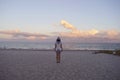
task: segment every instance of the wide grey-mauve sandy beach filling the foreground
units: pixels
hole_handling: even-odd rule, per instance
[[[48,50],[0,50],[0,80],[120,80],[120,56]]]

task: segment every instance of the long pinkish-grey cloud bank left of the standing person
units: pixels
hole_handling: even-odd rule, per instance
[[[40,33],[29,33],[29,32],[21,32],[20,30],[0,30],[0,34],[3,35],[10,35],[11,38],[15,39],[28,39],[28,40],[35,40],[35,39],[46,39],[49,37],[48,35],[40,34]]]

